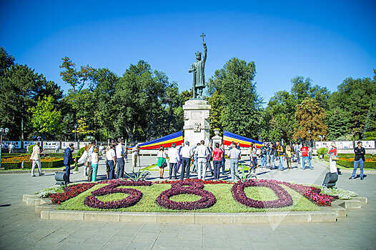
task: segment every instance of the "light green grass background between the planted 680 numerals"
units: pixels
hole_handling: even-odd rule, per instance
[[[192,212],[192,210],[172,210],[172,209],[164,209],[163,207],[159,206],[155,201],[157,196],[161,194],[162,191],[170,189],[171,184],[153,184],[152,186],[119,186],[119,187],[126,187],[131,189],[138,189],[142,191],[142,199],[135,204],[134,206],[130,206],[123,209],[117,210],[103,210],[103,209],[94,209],[89,206],[84,205],[84,199],[86,196],[91,194],[91,191],[99,189],[100,187],[107,185],[107,184],[98,184],[93,186],[91,189],[85,191],[78,196],[69,199],[61,204],[57,209],[60,210],[89,210],[89,211],[138,211],[138,212]],[[296,191],[288,188],[287,186],[281,185],[283,188],[289,192],[292,196],[293,205],[287,206],[285,208],[280,209],[254,209],[239,204],[237,201],[234,200],[232,197],[231,184],[205,184],[204,189],[207,191],[212,192],[217,199],[216,204],[207,208],[207,209],[199,209],[195,210],[194,212],[210,212],[210,213],[238,213],[238,212],[263,212],[263,211],[315,211],[320,210],[320,206],[313,204],[311,201],[305,199],[304,196],[300,195]],[[245,189],[245,193],[249,198],[257,199],[257,200],[274,200],[277,199],[277,196],[274,194],[272,189],[269,189],[264,186],[249,186]],[[117,194],[108,194],[106,196],[97,196],[98,199],[101,201],[114,201],[119,199],[124,199],[128,195],[117,193]],[[180,194],[177,196],[172,196],[171,199],[173,201],[197,201],[200,196],[196,196],[193,194]]]

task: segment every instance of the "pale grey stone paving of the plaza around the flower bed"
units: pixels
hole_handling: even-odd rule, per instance
[[[249,164],[248,157],[243,159]],[[141,159],[142,166],[155,162],[154,156]],[[300,166],[286,171],[257,169],[257,174],[259,179],[322,184],[327,169],[317,161],[313,166],[312,171],[302,171]],[[129,161],[126,171],[131,169]],[[101,179],[104,171],[102,161]],[[158,171],[151,173],[157,179]],[[335,223],[197,225],[42,221],[34,214],[34,206],[22,202],[22,195],[53,186],[54,174],[2,174],[0,249],[376,249],[376,174],[367,174],[364,180],[349,177],[343,173],[337,186],[366,196],[368,204],[348,211],[347,218]],[[84,181],[84,176],[73,174],[71,180]]]

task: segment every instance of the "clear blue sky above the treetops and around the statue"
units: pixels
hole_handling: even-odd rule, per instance
[[[179,90],[208,47],[207,79],[234,56],[254,61],[268,101],[294,76],[335,91],[376,68],[375,1],[0,1],[0,46],[66,91],[61,58],[121,76],[143,59]]]

